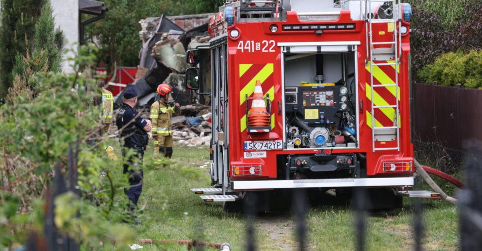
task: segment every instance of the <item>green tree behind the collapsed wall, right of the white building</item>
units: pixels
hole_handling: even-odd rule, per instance
[[[109,72],[116,66],[136,66],[142,41],[139,21],[161,15],[187,15],[217,12],[222,1],[202,0],[106,0],[106,18],[90,24],[86,36],[99,48],[98,62],[107,64]],[[90,18],[85,16],[85,18]]]

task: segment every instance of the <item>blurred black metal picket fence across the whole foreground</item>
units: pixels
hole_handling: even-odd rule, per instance
[[[482,250],[482,143],[478,141],[465,142],[465,187],[457,194],[459,206],[460,224],[460,249],[463,251]],[[65,180],[68,181],[66,184]],[[27,250],[80,250],[80,245],[73,238],[61,234],[54,224],[54,200],[57,196],[67,191],[80,195],[77,188],[77,150],[69,148],[67,179],[61,172],[60,162],[56,165],[54,184],[49,190],[47,200],[46,219],[43,237],[31,234],[27,241]],[[366,217],[368,194],[365,188],[357,188],[353,196],[353,211],[355,214],[355,245],[356,250],[365,250],[365,239],[368,235]],[[249,200],[244,200],[243,207],[246,218],[246,250],[257,250],[255,221],[257,218],[258,198],[254,193]],[[296,222],[297,250],[307,250],[307,223],[306,213],[308,211],[308,196],[304,189],[296,189],[292,192],[292,213]],[[414,250],[423,250],[423,200],[416,200],[413,204],[412,232],[414,238]],[[201,231],[202,229],[199,229]],[[203,236],[200,234],[199,236]],[[340,238],[346,236],[340,236]],[[203,250],[204,245],[196,245],[201,241],[192,241],[188,250],[192,247],[195,250]],[[383,245],[383,243],[381,243]],[[235,247],[233,250],[241,250],[243,247]]]

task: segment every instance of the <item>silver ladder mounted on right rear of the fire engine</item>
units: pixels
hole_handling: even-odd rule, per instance
[[[399,106],[398,106],[398,93],[399,93],[399,86],[398,86],[398,71],[400,69],[400,55],[401,55],[401,34],[399,32],[401,26],[401,3],[400,0],[364,0],[365,2],[365,26],[366,26],[366,38],[368,43],[366,45],[367,49],[367,60],[366,65],[370,66],[370,88],[371,88],[371,125],[372,125],[372,149],[374,151],[380,150],[400,150],[400,127],[399,127]],[[372,3],[391,3],[392,4],[392,11],[393,17],[392,19],[373,19],[372,10]],[[395,12],[395,6],[398,6],[397,12]],[[360,8],[362,8],[360,6]],[[397,27],[398,22],[398,27]],[[393,41],[382,41],[382,42],[373,42],[373,24],[374,23],[393,23],[394,31],[393,31]],[[393,63],[374,63],[373,58],[373,46],[374,45],[391,45],[393,48]],[[394,65],[395,71],[395,83],[391,84],[383,84],[382,85],[373,85],[373,66],[384,66],[384,65]],[[382,105],[376,106],[373,101],[373,93],[378,88],[386,88],[386,87],[395,87],[395,105]],[[391,127],[376,127],[375,124],[375,109],[377,108],[394,108],[394,119],[393,125]],[[378,112],[381,112],[380,110]],[[393,137],[395,138],[393,139]],[[375,147],[375,141],[397,141],[397,147]]]

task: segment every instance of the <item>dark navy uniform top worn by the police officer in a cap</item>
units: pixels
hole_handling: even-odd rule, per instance
[[[117,110],[116,124],[118,130],[125,126],[120,133],[121,145],[144,151],[149,141],[149,135],[144,131],[147,121],[141,116],[137,116],[137,113],[128,104],[123,103]]]

